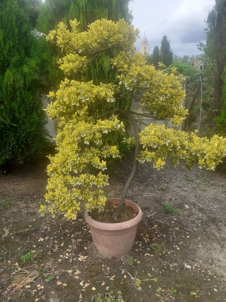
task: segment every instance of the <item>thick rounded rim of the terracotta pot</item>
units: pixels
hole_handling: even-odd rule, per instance
[[[120,198],[108,198],[106,201],[118,204],[120,201]],[[88,211],[86,210],[85,220],[89,225],[91,225],[92,227],[94,227],[96,229],[100,229],[100,230],[114,231],[114,230],[129,229],[130,227],[136,226],[140,222],[143,214],[142,214],[141,208],[138,206],[138,204],[135,204],[133,201],[125,199],[125,204],[129,205],[136,211],[138,210],[137,216],[135,216],[134,218],[132,218],[130,220],[124,221],[124,222],[106,223],[106,222],[99,222],[97,220],[94,220],[93,218],[91,218],[89,216]]]

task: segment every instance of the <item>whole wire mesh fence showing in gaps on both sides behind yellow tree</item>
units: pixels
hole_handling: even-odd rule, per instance
[[[213,75],[191,75],[187,77],[184,82],[181,82],[181,85],[183,86],[183,89],[186,90],[186,99],[183,101],[182,105],[188,109],[189,114],[179,129],[186,130],[188,132],[197,129],[199,130],[199,136],[208,135],[208,132],[210,132],[214,126],[214,120],[212,118],[214,110]],[[148,113],[145,108],[142,108],[141,102],[143,94],[146,92],[147,88],[148,87],[140,87],[136,89],[133,98],[133,111],[138,113]],[[42,95],[43,109],[48,106],[50,101],[50,98],[47,98],[44,94]],[[149,121],[147,120],[146,122]],[[153,120],[150,120],[150,123],[151,122],[153,122]],[[159,122],[157,123],[159,124]],[[168,125],[166,121],[164,123],[166,126]],[[58,121],[50,120],[46,114],[45,127],[47,130],[47,139],[51,143],[55,143],[53,138],[56,137],[57,126]]]

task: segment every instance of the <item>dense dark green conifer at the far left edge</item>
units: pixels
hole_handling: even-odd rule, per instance
[[[27,2],[0,3],[0,165],[3,166],[22,163],[41,153],[45,144],[39,69],[30,56],[32,24],[22,5]]]

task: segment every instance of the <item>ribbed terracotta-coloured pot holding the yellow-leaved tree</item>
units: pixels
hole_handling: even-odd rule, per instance
[[[118,204],[119,198],[109,198],[106,202]],[[142,218],[141,208],[132,201],[125,200],[125,204],[137,211],[137,216],[120,223],[104,223],[93,220],[86,210],[85,220],[89,224],[93,242],[98,252],[107,257],[118,257],[128,253],[133,245],[137,225]]]

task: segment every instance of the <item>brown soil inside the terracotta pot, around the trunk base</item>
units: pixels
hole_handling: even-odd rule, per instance
[[[119,223],[119,222],[125,222],[128,220],[133,219],[135,216],[137,216],[137,212],[130,207],[129,205],[124,204],[120,215],[117,219],[112,218],[112,215],[117,208],[117,205],[111,202],[107,202],[104,206],[103,211],[99,211],[98,209],[92,210],[92,212],[89,212],[89,217],[92,219],[99,221],[99,222],[105,222],[105,223]]]

